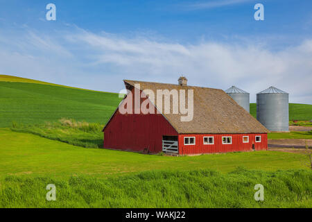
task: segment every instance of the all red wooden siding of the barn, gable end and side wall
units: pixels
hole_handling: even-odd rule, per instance
[[[132,96],[134,97],[134,89]],[[145,99],[141,99],[141,103]],[[132,98],[134,101],[134,98]],[[121,114],[118,110],[104,129],[104,148],[120,150],[143,151],[145,148],[152,153],[162,151],[162,137],[178,136],[180,155],[200,153],[227,153],[234,151],[267,150],[268,137],[266,133],[259,134],[180,134],[171,126],[162,114]],[[135,107],[133,104],[132,111]],[[255,137],[261,136],[261,142]],[[249,142],[243,143],[243,136],[249,136]],[[184,137],[196,137],[195,145],[184,145]],[[214,144],[204,144],[203,137],[214,137]],[[232,137],[232,144],[222,144],[222,137]]]

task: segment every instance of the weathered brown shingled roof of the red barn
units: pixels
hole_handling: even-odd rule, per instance
[[[124,80],[125,87],[131,89],[135,84],[140,89],[151,89],[156,95],[157,89],[193,89],[193,120],[181,121],[183,114],[165,114],[164,117],[177,130],[177,133],[268,133],[269,131],[257,119],[236,103],[222,89],[207,87],[180,86],[165,83],[150,83],[136,80]],[[187,96],[187,91],[186,91]],[[157,104],[155,96],[155,105]],[[186,99],[187,103],[187,99]],[[171,103],[172,104],[172,103]],[[172,106],[172,105],[171,105]],[[162,110],[160,110],[162,111]]]

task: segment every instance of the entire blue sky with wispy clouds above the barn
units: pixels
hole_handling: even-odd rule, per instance
[[[251,101],[274,85],[312,104],[311,26],[312,1],[0,1],[0,73],[109,92],[184,74]]]

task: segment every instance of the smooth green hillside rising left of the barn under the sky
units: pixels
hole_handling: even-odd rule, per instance
[[[58,121],[66,117],[106,123],[120,99],[118,94],[49,85],[25,78],[0,80],[0,127]],[[23,83],[14,82],[22,80]],[[28,81],[28,82],[27,82]]]

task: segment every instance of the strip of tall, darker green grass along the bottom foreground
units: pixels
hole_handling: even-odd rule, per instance
[[[304,170],[147,171],[119,178],[22,178],[1,181],[0,207],[312,207],[312,173]],[[46,185],[56,200],[46,200]],[[254,185],[264,201],[254,200]]]

